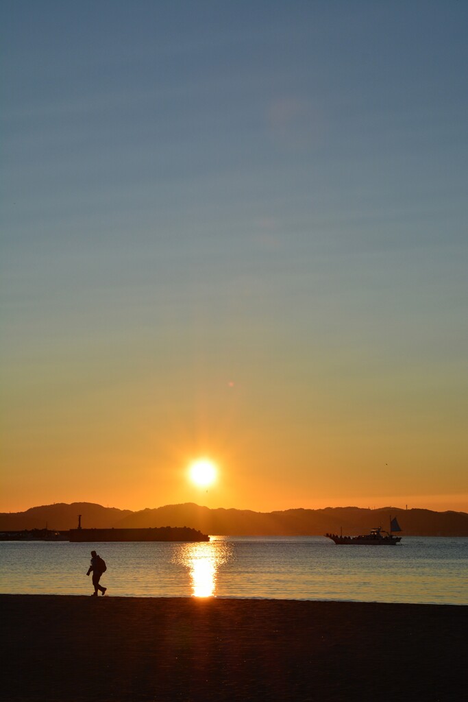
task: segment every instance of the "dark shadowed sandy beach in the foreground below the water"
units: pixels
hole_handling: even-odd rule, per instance
[[[468,699],[468,608],[0,595],[0,699]]]

